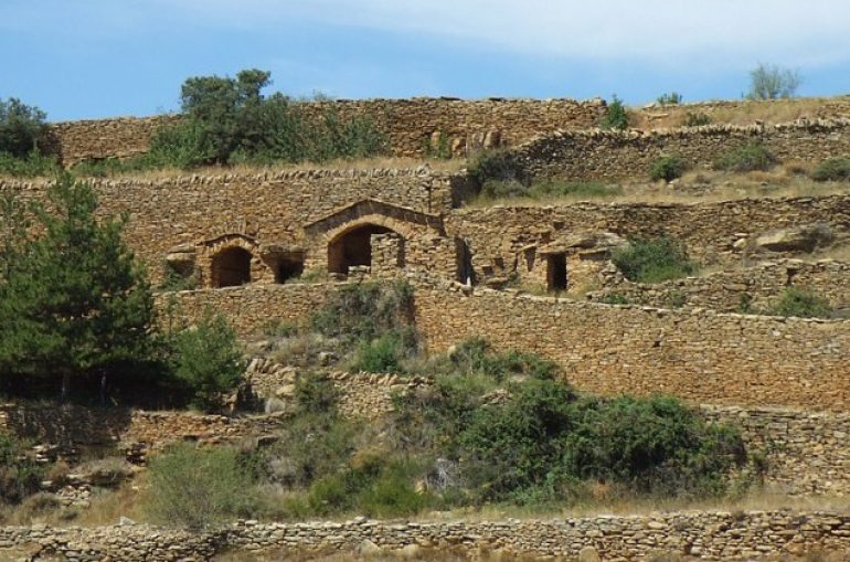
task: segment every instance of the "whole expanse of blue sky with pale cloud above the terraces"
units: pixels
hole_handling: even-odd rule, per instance
[[[189,76],[339,98],[739,98],[758,62],[850,94],[847,0],[0,0],[0,97],[50,120],[179,107]]]

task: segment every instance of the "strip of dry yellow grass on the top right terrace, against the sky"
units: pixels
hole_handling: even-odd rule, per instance
[[[850,117],[850,98],[801,98],[775,102],[727,102],[633,109],[631,126],[638,129],[681,127],[688,113],[705,114],[714,124],[752,125],[788,123],[803,117]]]

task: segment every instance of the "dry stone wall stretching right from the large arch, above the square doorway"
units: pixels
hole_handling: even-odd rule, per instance
[[[703,264],[740,264],[753,234],[800,225],[825,225],[837,240],[850,233],[850,195],[743,199],[712,203],[593,203],[456,209],[446,231],[469,245],[472,266],[516,271],[528,247],[576,232],[623,237],[670,236]],[[776,253],[775,257],[790,254]],[[522,273],[522,272],[520,272]]]

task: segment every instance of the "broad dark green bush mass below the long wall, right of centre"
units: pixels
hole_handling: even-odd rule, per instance
[[[709,425],[674,399],[578,399],[555,381],[532,380],[512,399],[476,410],[459,442],[465,474],[481,499],[551,499],[583,480],[639,492],[724,491],[745,460],[740,435]]]

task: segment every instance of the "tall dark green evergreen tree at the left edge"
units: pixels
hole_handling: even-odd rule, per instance
[[[99,380],[150,351],[153,299],[123,241],[126,218],[98,220],[97,197],[62,176],[33,205],[35,235],[7,252],[0,279],[0,375]],[[10,208],[11,209],[11,208]]]

